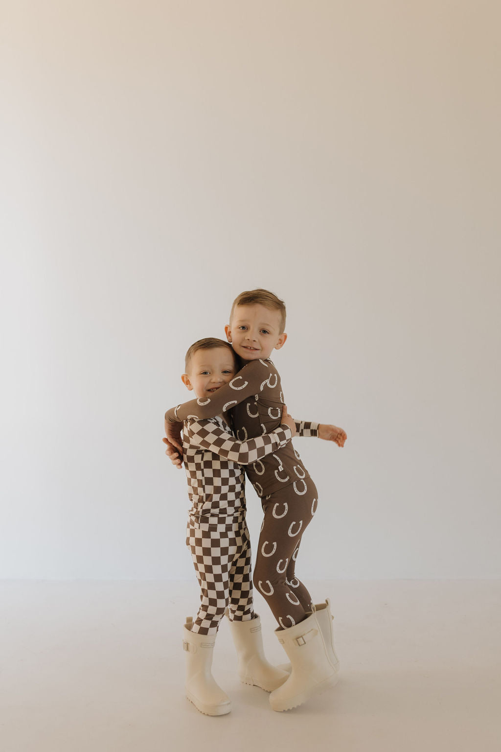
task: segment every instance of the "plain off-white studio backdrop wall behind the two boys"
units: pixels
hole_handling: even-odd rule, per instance
[[[501,576],[500,15],[4,0],[3,578],[193,578],[163,414],[253,287],[349,435],[298,574]]]

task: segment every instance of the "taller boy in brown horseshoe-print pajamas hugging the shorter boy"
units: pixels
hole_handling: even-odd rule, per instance
[[[174,444],[177,427],[171,424],[189,414],[203,419],[231,408],[237,438],[243,440],[273,432],[281,420],[284,400],[270,354],[287,338],[285,305],[267,290],[241,293],[225,332],[245,365],[203,404],[189,402],[165,414],[166,432]],[[346,441],[346,433],[337,426],[299,428],[300,435],[318,435],[341,447]],[[338,670],[329,602],[315,607],[295,575],[301,536],[315,514],[318,493],[291,443],[248,465],[246,472],[264,511],[254,584],[279,623],[276,633],[291,659],[291,677],[270,696],[272,708],[282,711],[333,684]]]

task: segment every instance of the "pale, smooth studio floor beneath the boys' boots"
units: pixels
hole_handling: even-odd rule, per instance
[[[2,752],[499,752],[499,581],[309,581],[329,596],[337,687],[287,713],[238,681],[223,620],[222,717],[184,696],[195,582],[0,583]],[[260,596],[268,658],[285,656]]]

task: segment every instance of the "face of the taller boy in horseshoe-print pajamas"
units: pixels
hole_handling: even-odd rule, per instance
[[[231,322],[225,326],[226,338],[243,360],[264,360],[285,344],[287,335],[280,333],[281,320],[280,311],[264,305],[236,305]]]

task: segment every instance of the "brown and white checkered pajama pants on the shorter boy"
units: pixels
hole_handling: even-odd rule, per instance
[[[254,618],[249,530],[239,523],[186,527],[186,545],[192,552],[200,584],[201,606],[192,632],[215,635],[229,608],[231,621]]]

